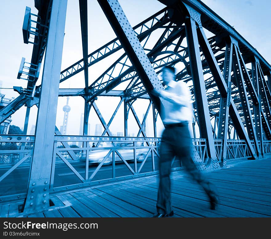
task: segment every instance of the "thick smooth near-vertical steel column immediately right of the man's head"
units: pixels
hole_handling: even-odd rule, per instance
[[[212,159],[216,159],[216,150],[212,134],[212,125],[203,77],[203,69],[200,59],[200,48],[196,32],[196,23],[190,17],[186,17],[185,19],[185,30],[194,86],[194,94],[196,98],[200,137],[206,138],[208,156]]]

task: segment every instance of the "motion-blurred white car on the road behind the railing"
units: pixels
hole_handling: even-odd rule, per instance
[[[118,147],[119,148],[119,147],[129,147],[129,146],[132,147],[133,143],[114,143],[114,145],[112,145],[110,143],[110,145],[103,144],[102,147]],[[88,160],[89,160],[90,164],[100,163],[101,161],[103,161],[104,157],[110,151],[110,149],[98,149],[98,148],[95,148],[95,149],[89,151]],[[134,150],[133,149],[129,149],[129,148],[121,149],[120,148],[117,150],[118,150],[119,154],[121,155],[121,157],[123,157],[123,159],[125,161],[134,160]],[[136,161],[137,162],[143,161],[146,154],[148,153],[148,150],[149,150],[148,148],[143,148],[143,147],[136,148]],[[117,153],[115,153],[115,161],[122,161]],[[110,153],[110,155],[108,156],[106,161],[103,163],[103,165],[111,164],[111,163],[112,163],[112,153]]]

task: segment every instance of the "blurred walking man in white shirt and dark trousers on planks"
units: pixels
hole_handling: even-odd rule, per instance
[[[159,189],[157,195],[157,213],[153,217],[173,216],[171,203],[171,163],[174,156],[182,161],[183,166],[207,193],[211,209],[216,210],[218,198],[216,188],[197,169],[191,158],[192,139],[188,122],[192,120],[191,93],[184,82],[175,81],[175,68],[165,66],[162,72],[165,90],[153,91],[153,94],[164,99],[161,104],[161,119],[165,130],[162,134],[159,160]]]

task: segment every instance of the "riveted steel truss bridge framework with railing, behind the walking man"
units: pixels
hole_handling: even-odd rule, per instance
[[[26,75],[28,84],[25,89],[14,87],[20,95],[0,111],[3,122],[26,105],[24,135],[0,136],[2,145],[16,145],[0,152],[1,203],[24,200],[19,212],[33,213],[52,206],[50,196],[58,192],[157,174],[161,139],[157,137],[156,122],[163,101],[148,93],[163,88],[157,75],[165,65],[180,69],[177,80],[190,87],[194,106],[193,160],[201,170],[219,169],[237,158],[261,159],[271,153],[271,66],[233,27],[198,0],[160,0],[165,8],[134,27],[117,0],[98,2],[117,37],[89,53],[87,0],[79,0],[83,58],[66,69],[61,69],[61,60],[67,0],[35,1],[38,15],[26,7],[23,36],[25,43],[33,44],[33,51],[30,63],[22,61],[18,78]],[[31,34],[33,42],[29,41]],[[97,79],[91,79],[91,66],[116,52],[121,53],[120,57]],[[43,57],[42,83],[36,86]],[[62,82],[79,72],[84,73],[85,88],[61,88]],[[55,126],[55,102],[60,96],[84,99],[83,135],[61,135]],[[108,122],[96,104],[103,96],[120,99]],[[133,107],[138,99],[148,102],[142,121]],[[29,136],[27,125],[34,105],[38,107],[36,133]],[[122,105],[124,135],[112,136],[109,127]],[[87,135],[91,108],[104,128],[100,136]],[[134,137],[128,136],[129,113],[139,127]],[[148,113],[153,118],[151,136],[144,131]],[[82,147],[71,148],[75,142]],[[114,146],[92,149],[90,142]],[[145,150],[140,161],[136,153],[142,149],[139,142],[144,142]],[[107,153],[89,170],[93,150]],[[132,154],[131,161],[127,161],[123,150]],[[108,158],[109,166],[105,165]],[[84,169],[80,171],[82,159]],[[119,161],[127,171],[119,171]],[[60,167],[70,172],[63,175],[74,178],[59,183]],[[180,167],[178,162],[172,162],[173,170]],[[109,174],[101,173],[108,168]],[[19,177],[10,185],[12,178],[22,174],[25,179]]]

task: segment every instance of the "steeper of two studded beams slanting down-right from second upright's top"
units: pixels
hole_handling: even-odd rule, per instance
[[[243,113],[245,116],[245,123],[246,123],[246,128],[248,132],[248,136],[250,140],[254,141],[255,144],[255,149],[256,149],[256,155],[259,157],[259,146],[258,146],[258,141],[256,137],[256,132],[255,128],[253,126],[253,119],[250,111],[250,105],[249,105],[249,100],[247,96],[247,91],[245,88],[245,81],[241,69],[241,64],[239,61],[239,55],[238,55],[238,50],[237,50],[238,44],[234,44],[233,47],[233,71],[234,71],[234,76],[237,81],[237,86],[239,90],[239,96],[241,99],[241,106],[243,109]]]

